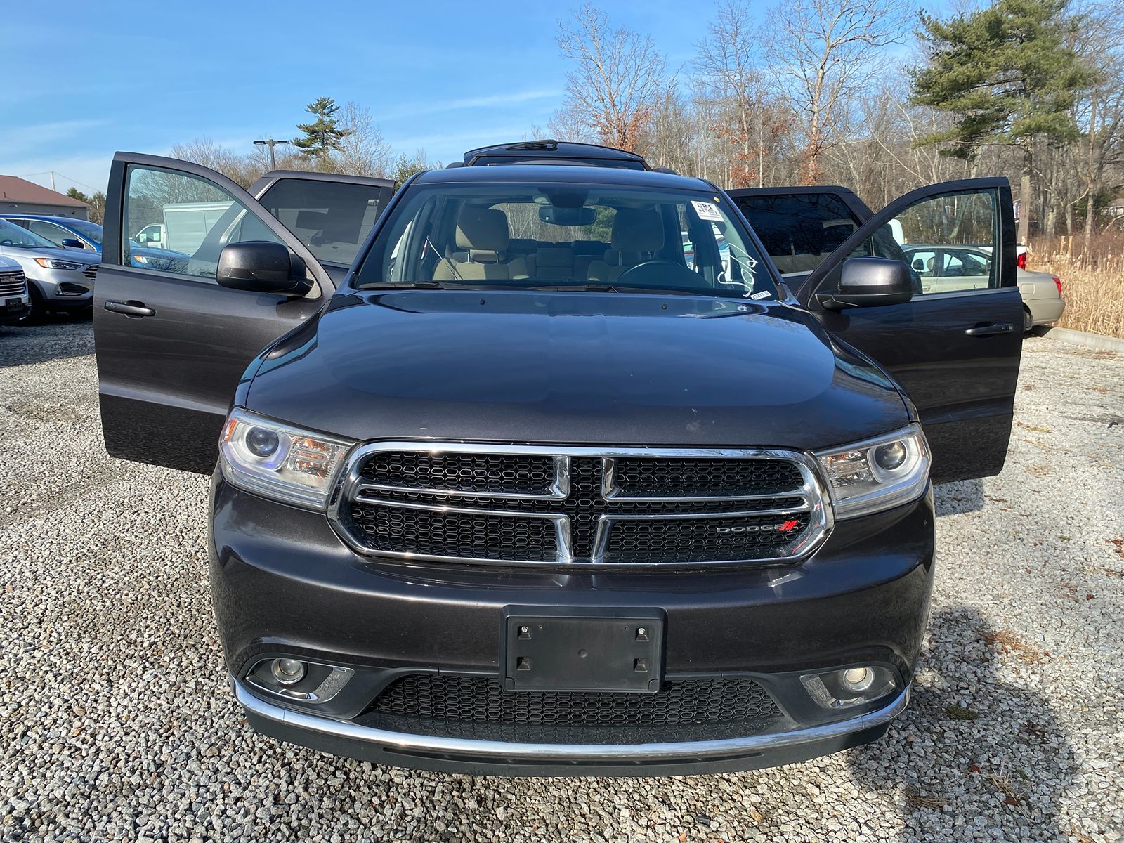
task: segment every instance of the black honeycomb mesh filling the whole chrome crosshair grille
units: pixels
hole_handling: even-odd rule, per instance
[[[569,554],[578,562],[668,564],[785,558],[812,520],[807,511],[796,511],[808,508],[808,502],[796,493],[804,486],[800,469],[783,459],[616,457],[614,479],[622,493],[655,500],[606,499],[605,463],[600,456],[571,456],[569,470],[569,493],[564,499],[502,497],[546,493],[554,481],[553,456],[375,452],[362,465],[360,483],[401,488],[362,489],[351,506],[343,509],[343,526],[364,546],[383,553],[554,562],[566,550],[558,545],[554,522],[518,516],[565,516]],[[450,496],[443,495],[442,489],[469,493]],[[673,499],[688,495],[767,497]],[[396,502],[436,505],[445,511],[410,509],[395,506]],[[488,514],[455,511],[459,508]],[[754,510],[791,514],[754,516]],[[492,511],[514,515],[499,516]],[[729,518],[722,517],[725,513],[732,514]],[[714,517],[643,518],[688,514]],[[597,549],[602,515],[614,520],[608,543]],[[795,526],[778,528],[792,519]],[[727,527],[770,528],[726,531]],[[595,558],[595,551],[601,555]]]

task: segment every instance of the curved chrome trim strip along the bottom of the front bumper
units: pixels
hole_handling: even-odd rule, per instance
[[[854,732],[881,726],[905,710],[909,704],[909,689],[883,708],[849,720],[839,720],[823,726],[779,732],[767,735],[747,735],[720,741],[687,741],[681,743],[640,744],[537,744],[508,741],[474,741],[463,737],[439,735],[411,735],[388,732],[380,728],[359,726],[347,720],[334,720],[303,711],[275,706],[252,695],[234,677],[230,685],[238,703],[250,713],[285,726],[350,738],[363,743],[379,744],[404,752],[448,753],[453,755],[475,755],[481,759],[505,758],[541,761],[660,761],[677,758],[708,758],[754,753],[767,750],[798,746],[834,737],[843,737]]]

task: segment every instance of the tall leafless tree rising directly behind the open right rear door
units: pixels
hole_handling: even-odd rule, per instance
[[[824,151],[845,134],[887,47],[905,38],[906,8],[895,0],[789,0],[769,12],[769,65],[805,136],[803,183],[819,181]]]

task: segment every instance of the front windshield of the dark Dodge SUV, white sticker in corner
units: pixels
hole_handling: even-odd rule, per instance
[[[710,192],[619,184],[415,185],[356,287],[774,298],[765,263],[727,206]]]

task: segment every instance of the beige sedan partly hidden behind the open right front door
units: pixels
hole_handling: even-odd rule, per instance
[[[921,277],[925,292],[973,290],[988,285],[991,250],[987,246],[941,246],[924,243],[904,247],[909,264]],[[1024,253],[1025,254],[1025,253]],[[1024,261],[1025,263],[1025,261]],[[1023,297],[1023,329],[1052,325],[1066,310],[1061,279],[1049,272],[1019,269],[1018,292]]]

